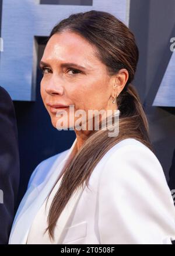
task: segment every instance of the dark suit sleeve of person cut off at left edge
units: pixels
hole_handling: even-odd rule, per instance
[[[0,244],[7,244],[19,186],[19,149],[15,109],[8,92],[0,87]]]

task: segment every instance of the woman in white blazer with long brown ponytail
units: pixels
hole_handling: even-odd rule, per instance
[[[76,139],[34,170],[10,244],[171,244],[175,239],[173,198],[131,85],[137,62],[134,35],[107,12],[76,13],[53,28],[40,63],[41,96],[53,126],[73,127]],[[102,129],[104,115],[99,130],[79,129],[79,110],[111,110],[113,121],[119,110],[119,133],[109,136]]]

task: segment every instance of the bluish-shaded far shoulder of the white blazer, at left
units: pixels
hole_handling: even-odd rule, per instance
[[[33,186],[38,186],[45,179],[47,179],[47,177],[51,175],[51,167],[53,166],[54,162],[59,160],[61,161],[62,157],[67,154],[68,150],[62,151],[61,153],[55,154],[41,161],[30,176],[28,188],[31,186],[31,184]]]

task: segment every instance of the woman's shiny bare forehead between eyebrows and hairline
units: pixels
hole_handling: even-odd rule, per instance
[[[84,64],[87,67],[101,64],[95,56],[95,47],[73,32],[54,34],[48,40],[43,54],[43,61],[68,61]]]

